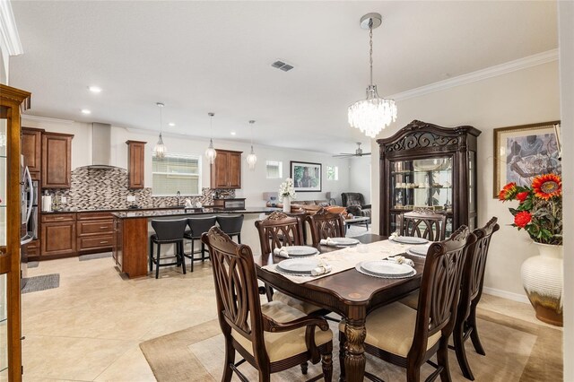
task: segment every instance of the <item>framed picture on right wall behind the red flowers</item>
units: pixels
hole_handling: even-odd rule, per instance
[[[556,124],[560,121],[494,129],[494,197],[510,182],[530,186],[537,175],[561,174]]]

